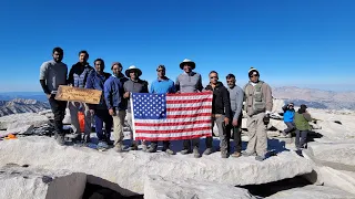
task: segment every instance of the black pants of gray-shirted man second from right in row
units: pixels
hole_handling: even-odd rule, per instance
[[[235,150],[237,153],[242,151],[242,114],[237,118],[237,126],[232,125],[232,119],[230,121],[230,124],[225,127],[226,128],[226,140],[227,140],[227,151],[231,153],[231,144],[230,139],[233,137],[234,144],[235,144]]]

